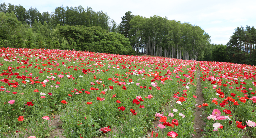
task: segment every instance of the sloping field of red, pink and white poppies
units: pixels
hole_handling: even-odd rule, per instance
[[[0,137],[194,137],[201,107],[204,137],[255,137],[255,66],[8,47],[0,57]]]

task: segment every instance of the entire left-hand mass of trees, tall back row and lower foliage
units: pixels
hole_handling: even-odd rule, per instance
[[[135,55],[129,39],[115,32],[117,25],[111,29],[110,18],[102,11],[61,6],[41,15],[36,8],[10,3],[0,3],[0,10],[0,46]]]

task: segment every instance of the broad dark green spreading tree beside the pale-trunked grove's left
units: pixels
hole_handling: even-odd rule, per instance
[[[108,32],[101,27],[64,25],[56,28],[55,35],[64,38],[70,49],[134,55],[129,40],[119,33]]]

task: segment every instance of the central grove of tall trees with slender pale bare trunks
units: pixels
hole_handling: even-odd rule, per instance
[[[201,27],[156,15],[145,18],[128,11],[119,29],[136,52],[156,56],[200,60],[210,43],[210,36]]]

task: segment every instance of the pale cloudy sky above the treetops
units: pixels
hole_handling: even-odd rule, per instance
[[[122,21],[125,12],[149,18],[167,17],[200,26],[211,36],[211,43],[227,44],[236,27],[252,27],[256,23],[255,0],[0,0],[39,12],[52,12],[56,7],[92,7],[94,11],[103,11],[117,24]]]

